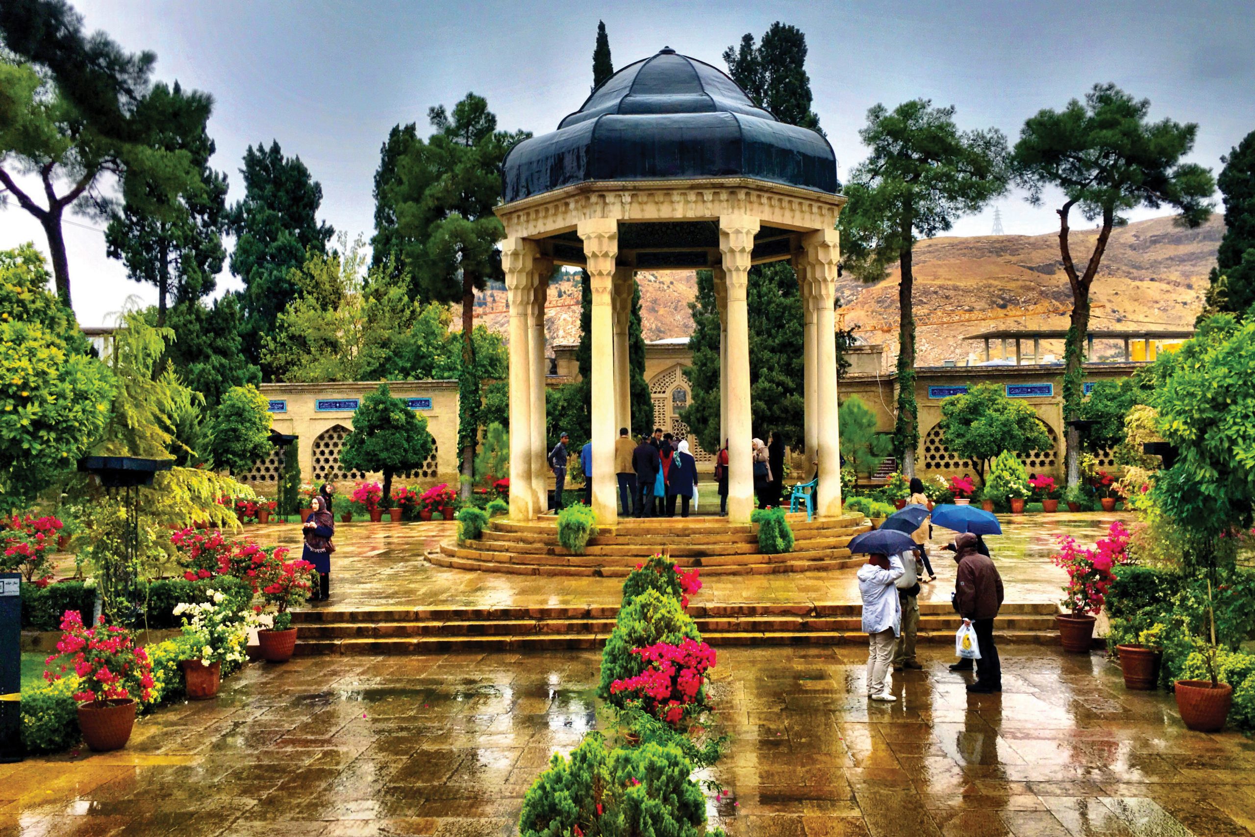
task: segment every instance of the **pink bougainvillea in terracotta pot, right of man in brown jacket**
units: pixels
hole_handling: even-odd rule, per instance
[[[1050,561],[1068,573],[1064,599],[1060,602],[1069,612],[1054,617],[1059,626],[1059,639],[1065,651],[1088,654],[1093,645],[1094,621],[1102,611],[1107,590],[1114,576],[1112,567],[1127,560],[1130,532],[1119,521],[1111,525],[1106,538],[1093,550],[1082,550],[1074,538],[1060,535],[1059,552]]]

